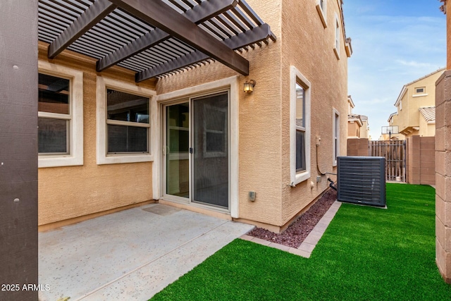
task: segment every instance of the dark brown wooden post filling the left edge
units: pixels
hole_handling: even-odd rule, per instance
[[[0,7],[0,300],[37,300],[37,0]]]

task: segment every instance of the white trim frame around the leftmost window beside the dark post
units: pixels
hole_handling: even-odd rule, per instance
[[[69,152],[68,154],[39,155],[38,167],[83,165],[83,72],[47,61],[38,61],[37,67],[39,73],[70,80]],[[38,112],[38,116],[55,117],[54,114],[46,112]]]

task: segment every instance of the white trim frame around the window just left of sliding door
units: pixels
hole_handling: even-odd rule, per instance
[[[149,153],[148,154],[107,154],[106,143],[106,89],[118,90],[121,92],[127,92],[136,95],[142,95],[149,97]],[[138,87],[128,82],[121,82],[118,80],[111,80],[110,78],[104,78],[97,76],[97,164],[123,164],[123,163],[136,163],[136,162],[149,162],[154,161],[152,152],[153,141],[157,139],[156,133],[156,104],[154,96],[156,92],[144,87]]]

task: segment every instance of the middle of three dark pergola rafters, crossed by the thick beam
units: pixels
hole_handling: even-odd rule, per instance
[[[208,0],[186,11],[183,13],[183,16],[190,19],[192,23],[199,24],[205,20],[213,18],[214,16],[218,16],[231,8],[234,8],[236,5],[237,0]],[[124,61],[135,54],[139,54],[141,51],[149,49],[150,47],[154,47],[156,44],[159,44],[170,37],[171,35],[168,35],[163,30],[155,28],[155,30],[147,32],[145,35],[135,39],[135,41],[130,44],[127,44],[104,58],[99,59],[99,61],[97,61],[97,72],[101,72],[106,68],[121,63],[121,61]]]

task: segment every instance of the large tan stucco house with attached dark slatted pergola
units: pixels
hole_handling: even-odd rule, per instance
[[[342,1],[111,2],[39,1],[41,230],[159,201],[280,231],[328,189]]]

